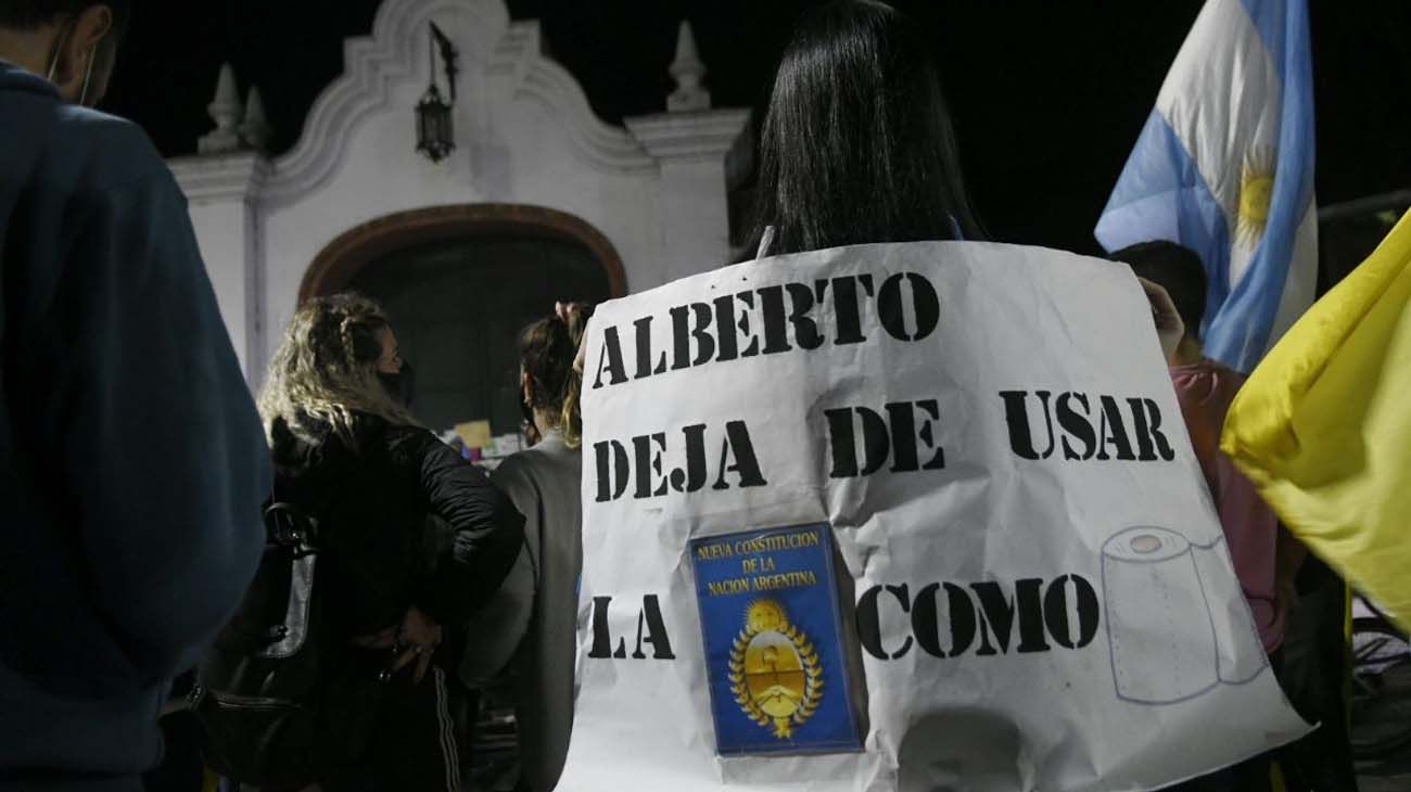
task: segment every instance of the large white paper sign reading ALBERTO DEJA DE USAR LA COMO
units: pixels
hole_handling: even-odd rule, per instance
[[[1153,789],[1307,730],[1120,265],[917,242],[687,278],[598,309],[583,412],[560,789]],[[840,713],[858,750],[810,753]]]

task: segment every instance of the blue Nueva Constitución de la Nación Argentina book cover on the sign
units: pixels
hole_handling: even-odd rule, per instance
[[[715,751],[862,750],[825,523],[691,541]]]

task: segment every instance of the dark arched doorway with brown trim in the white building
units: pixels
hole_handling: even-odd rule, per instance
[[[442,431],[488,421],[519,428],[519,330],[556,300],[625,293],[611,242],[570,214],[519,204],[460,204],[381,217],[320,252],[301,302],[356,290],[388,311],[415,369],[413,410]]]

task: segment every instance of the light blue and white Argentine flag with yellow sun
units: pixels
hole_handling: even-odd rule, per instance
[[[1096,228],[1171,240],[1209,275],[1206,355],[1250,372],[1318,279],[1305,0],[1206,0]]]

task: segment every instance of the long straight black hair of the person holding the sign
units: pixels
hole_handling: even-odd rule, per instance
[[[983,235],[940,73],[917,25],[876,0],[800,17],[759,141],[749,254]]]

